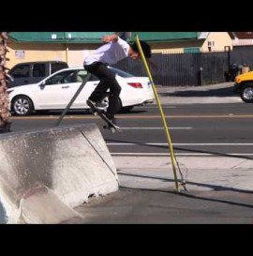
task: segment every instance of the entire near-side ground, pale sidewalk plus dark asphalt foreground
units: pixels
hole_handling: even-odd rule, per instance
[[[252,223],[253,160],[178,158],[186,188],[176,192],[170,158],[113,157],[120,189],[76,210],[83,223]],[[185,165],[185,166],[184,166]],[[187,170],[186,170],[187,169]],[[180,179],[180,176],[178,177]]]

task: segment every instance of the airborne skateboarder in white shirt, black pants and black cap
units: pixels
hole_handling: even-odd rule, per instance
[[[107,117],[116,125],[114,115],[119,110],[117,109],[121,86],[115,78],[115,73],[112,72],[109,65],[114,65],[127,57],[138,60],[141,58],[138,46],[136,43],[128,44],[127,41],[119,38],[118,35],[104,36],[103,42],[107,43],[97,49],[94,53],[88,55],[84,60],[84,68],[91,74],[97,76],[100,80],[97,88],[91,94],[87,101],[92,101],[97,109],[103,110],[105,105],[100,101],[110,88],[109,108]],[[151,57],[150,46],[141,41],[141,48],[146,58]]]

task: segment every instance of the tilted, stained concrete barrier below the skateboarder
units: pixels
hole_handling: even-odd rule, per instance
[[[21,218],[25,223],[67,222],[79,218],[69,208],[119,188],[111,154],[95,124],[3,134],[0,162],[1,201],[12,223]],[[32,196],[27,196],[31,190]],[[49,215],[57,211],[50,211],[52,204],[67,214],[45,218],[44,212],[43,218],[37,217],[47,198],[54,202],[46,206]]]

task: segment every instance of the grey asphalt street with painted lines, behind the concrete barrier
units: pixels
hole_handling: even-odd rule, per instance
[[[253,158],[252,104],[163,105],[171,141],[178,156]],[[51,128],[61,112],[13,116],[13,131]],[[136,107],[116,116],[121,132],[103,130],[103,121],[89,112],[70,112],[62,126],[96,122],[112,156],[166,156],[169,153],[156,105]]]

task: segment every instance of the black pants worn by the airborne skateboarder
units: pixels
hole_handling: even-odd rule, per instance
[[[121,92],[121,86],[115,78],[115,73],[113,73],[106,64],[101,62],[95,62],[89,66],[84,66],[84,68],[89,73],[97,76],[100,80],[89,99],[95,102],[100,101],[110,88],[109,108],[107,113],[114,117],[114,114],[119,111],[119,95]]]

